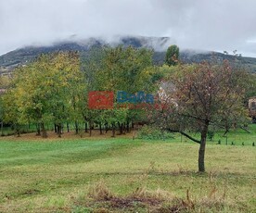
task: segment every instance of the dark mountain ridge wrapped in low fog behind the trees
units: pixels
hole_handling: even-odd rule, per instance
[[[168,37],[144,37],[144,36],[117,36],[111,40],[104,40],[100,38],[89,38],[84,40],[70,39],[68,41],[59,42],[56,44],[45,46],[27,46],[17,50],[6,53],[0,56],[0,72],[5,74],[10,72],[15,67],[26,64],[32,61],[33,58],[40,54],[47,54],[57,51],[79,51],[83,56],[90,48],[96,46],[110,45],[116,46],[122,44],[123,46],[132,45],[136,48],[146,47],[154,49],[155,53],[153,60],[155,64],[161,65],[164,62],[165,51],[172,40]],[[214,53],[217,60],[229,59],[234,60],[234,56],[224,55],[221,53]],[[210,60],[211,52],[198,52],[193,50],[182,50],[180,52],[180,59],[183,63],[200,62],[202,60]],[[241,57],[242,63],[251,71],[256,72],[256,58]]]

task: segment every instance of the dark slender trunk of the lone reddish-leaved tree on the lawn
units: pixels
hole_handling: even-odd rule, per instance
[[[205,167],[204,167],[204,155],[205,155],[205,146],[206,146],[206,137],[207,137],[207,132],[208,132],[208,126],[209,126],[209,121],[206,120],[204,123],[204,127],[202,129],[201,133],[201,140],[200,140],[200,147],[198,151],[198,171],[199,172],[204,172]]]

